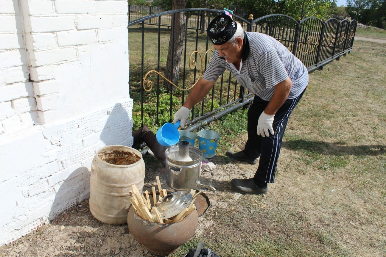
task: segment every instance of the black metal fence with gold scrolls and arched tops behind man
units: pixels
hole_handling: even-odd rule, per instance
[[[134,8],[129,9],[134,13]],[[147,9],[150,10],[150,9]],[[130,13],[129,12],[129,13]],[[146,13],[144,9],[135,12]],[[149,11],[150,14],[151,11]],[[130,95],[134,99],[134,127],[147,124],[156,130],[172,121],[173,114],[186,100],[187,92],[200,79],[213,52],[213,47],[201,33],[220,10],[191,8],[154,13],[129,19]],[[172,18],[183,13],[185,32],[181,54],[180,75],[171,91],[164,89],[163,81]],[[205,14],[205,15],[203,15]],[[254,20],[233,15],[244,29],[271,35],[285,45],[307,67],[308,72],[322,69],[325,64],[339,59],[352,49],[357,22],[331,18],[325,22],[308,17],[297,21],[287,15],[266,15]],[[131,17],[133,17],[131,15]],[[174,42],[172,41],[174,49]],[[225,72],[208,96],[191,110],[187,130],[195,130],[223,115],[243,107],[253,95],[244,92],[230,72]],[[139,119],[139,116],[141,119]]]

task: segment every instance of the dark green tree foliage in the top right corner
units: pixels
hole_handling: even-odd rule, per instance
[[[347,0],[346,10],[360,23],[385,27],[385,0]]]

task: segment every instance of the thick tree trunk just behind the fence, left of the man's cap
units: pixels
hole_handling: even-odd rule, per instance
[[[188,0],[173,0],[172,10],[185,8],[187,2]],[[171,34],[169,39],[169,51],[168,51],[168,59],[166,61],[165,77],[167,77],[174,84],[177,84],[178,77],[179,77],[179,64],[181,62],[181,54],[183,49],[185,21],[184,21],[183,12],[175,13],[175,20],[173,16],[174,14],[172,14],[172,20],[171,20]],[[174,30],[174,41],[173,41],[173,30]],[[174,48],[173,48],[173,42],[174,42]],[[173,58],[172,58],[172,55],[173,55]],[[171,91],[173,89],[173,85],[166,80],[164,81],[164,87],[168,91]]]

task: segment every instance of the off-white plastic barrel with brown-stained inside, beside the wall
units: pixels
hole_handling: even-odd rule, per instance
[[[90,212],[103,223],[124,224],[132,185],[142,192],[145,163],[131,147],[110,145],[97,151],[91,164]]]

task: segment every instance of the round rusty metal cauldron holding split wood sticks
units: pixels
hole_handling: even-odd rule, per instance
[[[144,220],[130,207],[127,225],[133,237],[149,252],[166,256],[193,237],[198,226],[198,214],[194,210],[178,222],[159,224]]]

